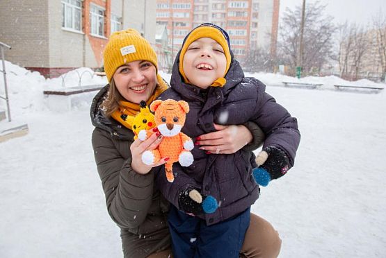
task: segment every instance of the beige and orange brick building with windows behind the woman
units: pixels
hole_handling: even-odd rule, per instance
[[[155,46],[156,0],[1,0],[6,60],[54,77],[101,67],[113,31],[136,28]]]

